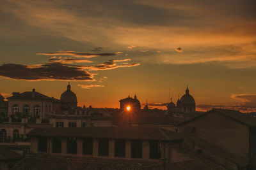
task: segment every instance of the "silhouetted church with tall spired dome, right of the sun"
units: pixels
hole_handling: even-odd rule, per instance
[[[168,115],[172,115],[173,117],[184,117],[189,113],[195,113],[195,99],[191,94],[189,94],[188,87],[186,89],[186,94],[184,94],[180,99],[177,100],[176,106],[171,102],[167,105]]]

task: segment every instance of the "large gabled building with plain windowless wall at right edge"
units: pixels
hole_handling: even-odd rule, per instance
[[[234,110],[213,109],[177,125],[180,133],[193,134],[233,155],[250,160],[256,168],[256,118]]]

